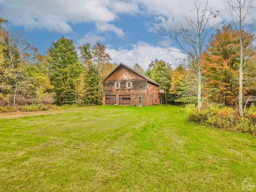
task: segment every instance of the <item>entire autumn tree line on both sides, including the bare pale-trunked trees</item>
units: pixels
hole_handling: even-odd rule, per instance
[[[235,14],[244,8],[242,13],[250,15],[255,6],[253,1],[242,5],[243,1],[231,2],[228,0],[226,4],[234,23],[222,25],[209,41],[207,36],[218,24],[219,14],[207,10],[207,3],[202,11],[199,1],[193,1],[197,18],[185,11],[182,14],[190,27],[166,20],[166,26],[157,30],[176,41],[187,54],[181,58],[181,65],[174,68],[156,59],[146,71],[139,64],[133,66],[160,84],[159,88],[164,89],[164,104],[196,103],[200,110],[203,101],[208,100],[238,106],[242,116],[240,108],[256,100],[255,36],[242,28],[246,18]],[[5,22],[0,18],[1,24]],[[117,66],[111,60],[104,44],[97,42],[91,47],[87,43],[77,50],[73,41],[64,37],[53,42],[46,55],[42,55],[19,32],[0,28],[0,106],[102,104],[100,82]]]

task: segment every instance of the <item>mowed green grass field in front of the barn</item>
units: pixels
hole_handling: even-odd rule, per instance
[[[256,138],[186,116],[165,105],[2,116],[0,192],[236,192],[247,177],[256,184]]]

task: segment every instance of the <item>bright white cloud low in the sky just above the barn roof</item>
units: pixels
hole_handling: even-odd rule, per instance
[[[180,58],[184,58],[185,55],[178,52],[170,52],[168,50],[174,49],[172,47],[160,48],[154,47],[146,42],[137,42],[136,44],[131,44],[132,49],[119,48],[118,50],[107,48],[106,52],[110,54],[113,58],[112,62],[124,63],[130,67],[138,63],[144,70],[148,68],[148,65],[152,60],[164,60],[172,64],[174,68],[179,63]]]

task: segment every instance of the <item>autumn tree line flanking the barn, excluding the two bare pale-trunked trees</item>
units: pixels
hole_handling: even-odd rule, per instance
[[[244,102],[256,93],[254,35],[246,34],[248,58],[244,84]],[[202,96],[225,106],[238,103],[239,35],[230,24],[218,29],[202,54],[204,78]],[[53,42],[46,55],[38,53],[22,34],[1,30],[0,98],[1,105],[24,104],[102,104],[100,82],[116,66],[104,44],[83,44],[77,50],[64,37]],[[196,103],[196,74],[192,68],[179,65],[173,68],[163,60],[154,60],[147,70],[139,64],[135,70],[152,78],[164,89],[164,104]]]

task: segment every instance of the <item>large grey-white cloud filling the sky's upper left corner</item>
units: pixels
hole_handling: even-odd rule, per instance
[[[116,15],[108,0],[2,0],[2,17],[28,29],[70,32],[70,23],[110,22]]]

